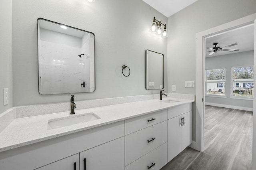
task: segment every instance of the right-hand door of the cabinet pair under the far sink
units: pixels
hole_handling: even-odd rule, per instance
[[[184,113],[184,125],[181,128],[181,151],[192,143],[192,113]]]

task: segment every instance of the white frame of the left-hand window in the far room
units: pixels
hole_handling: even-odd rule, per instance
[[[208,79],[207,79],[207,71],[208,70],[217,70],[217,69],[225,69],[225,80],[223,81],[223,80],[216,80],[216,81],[210,81],[210,82],[208,82]],[[226,81],[227,81],[227,69],[225,68],[225,67],[221,67],[221,68],[213,68],[213,69],[206,69],[206,88],[205,88],[205,96],[208,96],[208,97],[222,97],[222,98],[226,98]],[[222,94],[209,94],[209,93],[207,93],[208,92],[208,88],[207,88],[207,84],[208,83],[217,83],[217,86],[218,86],[218,84],[224,84],[223,86],[224,87],[216,87],[216,88],[224,88],[224,91],[225,91],[225,93],[222,95]]]

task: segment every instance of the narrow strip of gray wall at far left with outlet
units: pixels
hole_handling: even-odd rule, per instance
[[[0,0],[0,113],[13,107],[12,98],[12,1]],[[4,106],[4,88],[9,104]]]

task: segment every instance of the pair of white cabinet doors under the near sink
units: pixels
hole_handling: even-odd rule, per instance
[[[124,137],[58,160],[36,170],[124,170]]]

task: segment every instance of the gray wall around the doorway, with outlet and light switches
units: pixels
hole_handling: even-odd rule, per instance
[[[256,13],[256,0],[198,0],[168,18],[168,92],[196,94],[184,81],[196,80],[196,33]],[[216,19],[215,19],[216,18]],[[195,82],[195,86],[196,86]],[[196,105],[192,105],[192,139]]]

